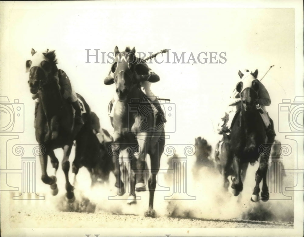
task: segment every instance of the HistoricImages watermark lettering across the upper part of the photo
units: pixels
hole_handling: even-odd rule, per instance
[[[227,53],[226,52],[171,52],[171,49],[166,49],[166,58],[157,59],[154,57],[153,61],[157,64],[224,64],[227,62]],[[130,52],[129,52],[130,53]],[[128,54],[128,53],[127,53]],[[145,61],[147,64],[153,63],[152,55],[153,52],[136,52],[138,55],[137,58],[150,57],[149,60]],[[160,53],[164,56],[164,53]],[[173,57],[173,59],[170,57]],[[115,53],[114,52],[103,52],[100,49],[85,49],[86,61],[85,63],[98,63],[98,64],[112,64],[115,62]],[[119,59],[120,60],[120,59]],[[134,58],[135,60],[135,58]],[[134,61],[135,62],[135,61]],[[133,63],[134,63],[133,62]],[[118,61],[121,63],[121,61]],[[132,62],[130,62],[132,63]]]

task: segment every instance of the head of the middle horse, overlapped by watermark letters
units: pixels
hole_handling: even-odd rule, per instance
[[[129,92],[142,80],[143,77],[140,76],[149,74],[149,68],[143,64],[140,58],[136,58],[135,47],[132,50],[126,47],[125,51],[119,52],[116,46],[114,54],[115,61],[111,67],[114,77],[108,76],[104,83],[106,85],[115,83],[118,98],[120,101],[124,101]]]

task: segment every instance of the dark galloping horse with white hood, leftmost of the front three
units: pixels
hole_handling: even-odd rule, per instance
[[[82,114],[85,124],[78,131],[74,130],[73,109],[71,103],[62,99],[60,87],[55,78],[58,73],[57,59],[55,51],[37,53],[32,49],[32,59],[26,61],[26,71],[29,71],[29,87],[32,94],[39,95],[39,105],[35,123],[36,140],[44,153],[40,155],[42,169],[41,179],[43,183],[49,184],[52,195],[57,195],[57,178],[47,174],[47,157],[50,156],[51,164],[55,173],[59,166],[59,161],[54,154],[54,149],[62,148],[64,156],[62,169],[66,179],[66,197],[69,201],[74,201],[74,187],[69,182],[68,172],[70,169],[69,155],[76,140],[76,152],[72,170],[76,175],[80,166],[80,159],[83,156],[86,146],[88,132],[90,131],[91,118],[90,108],[83,97],[77,94],[83,103]],[[61,88],[62,89],[62,88]]]

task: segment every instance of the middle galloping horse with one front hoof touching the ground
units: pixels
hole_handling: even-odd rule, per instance
[[[153,201],[156,187],[156,176],[160,167],[160,159],[164,150],[165,136],[164,125],[155,126],[155,114],[149,99],[139,89],[140,75],[147,75],[148,69],[135,57],[135,48],[126,48],[119,52],[115,47],[115,62],[112,65],[114,79],[107,84],[116,84],[118,101],[114,108],[113,127],[114,143],[119,148],[119,161],[125,157],[131,157],[131,166],[123,167],[121,162],[115,162],[115,175],[118,180],[116,186],[119,195],[125,193],[124,183],[121,181],[121,173],[127,169],[130,180],[130,195],[128,204],[136,203],[136,181],[143,180],[143,170],[146,168],[146,155],[150,155],[150,177],[148,187],[150,192],[149,209],[146,216],[154,216]],[[136,147],[136,152],[134,152]],[[129,152],[129,155],[126,153]],[[118,168],[119,166],[119,168]],[[140,191],[140,190],[139,190]]]

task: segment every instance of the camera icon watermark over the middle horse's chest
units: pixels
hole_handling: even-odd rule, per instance
[[[170,103],[169,100],[163,100],[163,103],[150,102],[149,97],[140,99],[131,99],[128,103],[127,122],[133,119],[134,113],[142,117],[138,120],[138,127],[144,132],[161,131],[164,125],[166,133],[174,133],[175,126],[175,103]],[[151,109],[152,107],[152,109]],[[149,119],[154,115],[155,119],[151,122]],[[128,127],[128,132],[131,131],[131,126]]]

